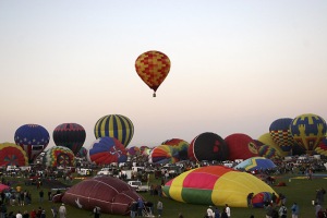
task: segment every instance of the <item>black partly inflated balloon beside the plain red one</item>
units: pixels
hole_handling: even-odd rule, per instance
[[[205,132],[197,135],[190,144],[190,160],[227,160],[229,150],[225,141],[216,133]]]

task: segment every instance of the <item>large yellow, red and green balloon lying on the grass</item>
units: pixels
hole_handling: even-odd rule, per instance
[[[247,172],[223,166],[189,170],[167,182],[164,194],[178,202],[201,205],[247,207],[249,193],[275,192]]]

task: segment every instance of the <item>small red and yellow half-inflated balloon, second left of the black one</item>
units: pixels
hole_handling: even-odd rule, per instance
[[[150,164],[174,164],[179,161],[178,149],[169,145],[159,145],[152,149],[148,156]]]

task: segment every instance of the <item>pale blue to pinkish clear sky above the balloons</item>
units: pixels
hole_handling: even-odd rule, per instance
[[[326,0],[0,0],[0,143],[24,124],[86,131],[107,114],[131,146],[214,132],[253,138],[279,118],[327,120]],[[148,50],[171,69],[153,97],[135,71]]]

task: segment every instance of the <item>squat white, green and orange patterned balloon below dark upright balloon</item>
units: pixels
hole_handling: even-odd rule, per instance
[[[73,167],[75,166],[75,156],[68,147],[53,146],[46,152],[43,162],[47,167]]]

